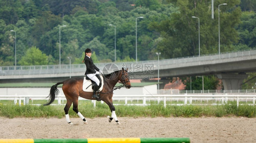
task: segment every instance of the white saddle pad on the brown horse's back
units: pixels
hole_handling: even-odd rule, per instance
[[[102,89],[103,89],[103,77],[102,77],[102,75],[100,76],[100,75],[96,75],[96,77],[99,79],[99,81],[100,81],[100,85],[99,85],[99,89],[98,89],[98,91],[102,91]],[[92,81],[90,78],[88,78],[88,77],[84,77],[83,78],[83,84],[82,84],[82,90],[83,91],[85,91],[85,92],[93,92],[93,88],[94,88],[94,85],[95,85],[96,83],[94,82],[94,81]]]

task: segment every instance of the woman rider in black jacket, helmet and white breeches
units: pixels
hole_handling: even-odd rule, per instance
[[[93,88],[92,98],[98,98],[98,95],[96,93],[97,93],[97,90],[99,88],[100,81],[96,77],[96,74],[100,74],[100,72],[102,72],[102,71],[99,70],[99,68],[97,68],[97,66],[95,66],[93,64],[91,56],[92,56],[92,50],[89,49],[89,48],[85,49],[85,56],[84,56],[84,60],[82,62],[84,62],[85,65],[86,65],[85,75],[96,83],[94,88]]]

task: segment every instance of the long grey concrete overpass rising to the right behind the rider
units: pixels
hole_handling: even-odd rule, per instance
[[[215,55],[201,55],[174,59],[97,63],[104,73],[128,68],[131,79],[159,77],[190,77],[216,75],[222,79],[225,90],[240,89],[247,72],[256,72],[256,50],[237,51]],[[84,64],[43,66],[1,66],[0,83],[10,82],[59,82],[69,77],[83,77]],[[160,82],[169,82],[161,80]]]

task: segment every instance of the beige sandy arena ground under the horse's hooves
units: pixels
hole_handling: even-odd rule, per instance
[[[107,117],[87,118],[0,117],[0,138],[190,138],[191,143],[256,143],[256,118],[246,117]]]

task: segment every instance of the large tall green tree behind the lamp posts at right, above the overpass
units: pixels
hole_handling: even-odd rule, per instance
[[[218,1],[215,3],[221,3]],[[239,0],[225,1],[229,5],[221,7],[221,43],[225,48],[221,52],[230,51],[230,44],[238,41],[235,26],[240,22],[241,9],[234,8]],[[179,56],[195,56],[198,50],[198,20],[200,18],[200,54],[217,53],[218,50],[218,19],[212,20],[210,3],[201,0],[178,0],[176,6],[179,13],[172,13],[169,19],[152,23],[151,27],[161,33],[162,41],[158,43],[158,51],[164,58]],[[218,5],[215,4],[215,15],[218,15]],[[217,12],[216,12],[217,11]]]

